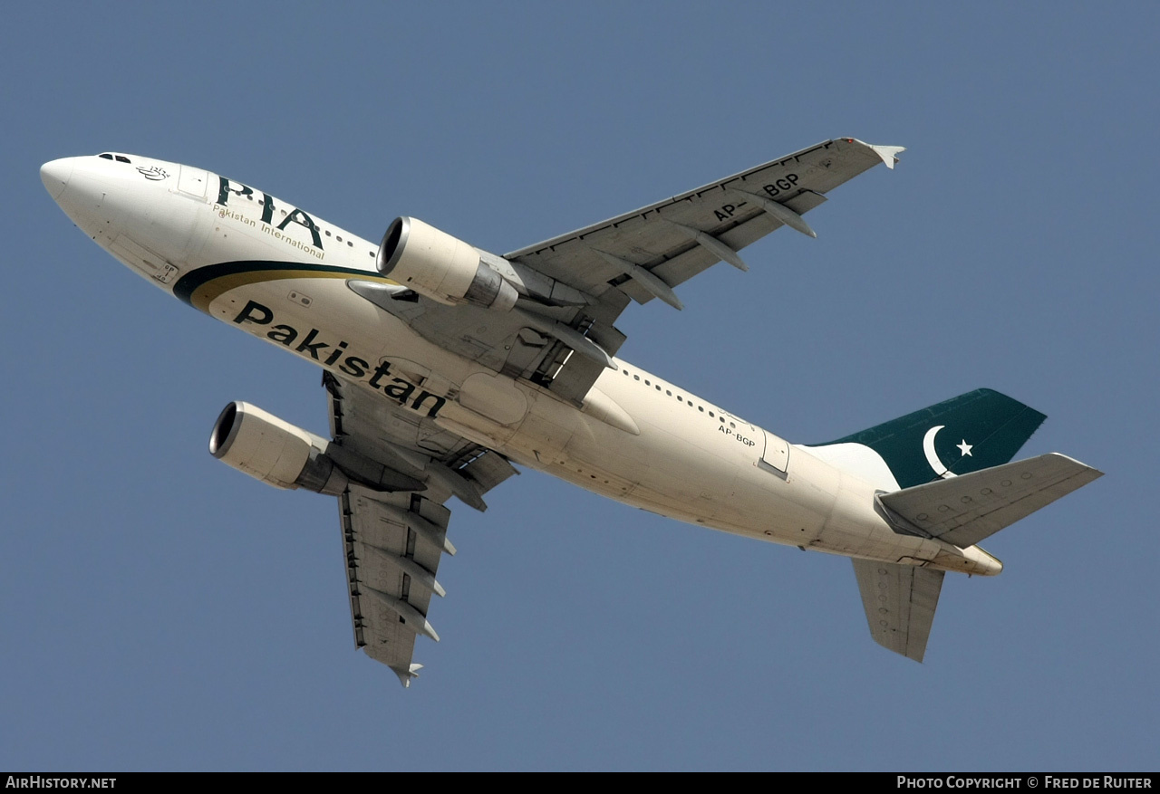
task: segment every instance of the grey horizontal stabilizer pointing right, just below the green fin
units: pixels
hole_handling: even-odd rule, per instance
[[[878,498],[906,529],[966,548],[1101,476],[1051,452]]]

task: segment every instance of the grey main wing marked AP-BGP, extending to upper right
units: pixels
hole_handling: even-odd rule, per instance
[[[512,312],[351,289],[436,344],[579,405],[624,342],[614,323],[631,301],[680,308],[673,287],[720,261],[747,269],[739,252],[770,232],[814,236],[805,212],[862,172],[893,168],[901,151],[836,138],[506,257],[480,252],[520,282]]]

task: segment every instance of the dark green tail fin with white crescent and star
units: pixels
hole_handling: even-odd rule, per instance
[[[869,446],[899,488],[911,488],[1006,464],[1045,418],[1006,394],[978,388],[828,444]]]

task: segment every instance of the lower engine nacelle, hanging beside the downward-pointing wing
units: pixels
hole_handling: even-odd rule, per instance
[[[210,434],[210,453],[275,488],[339,495],[349,482],[328,442],[248,402],[231,402]]]

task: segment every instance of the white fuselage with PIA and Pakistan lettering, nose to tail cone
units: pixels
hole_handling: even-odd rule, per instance
[[[875,496],[898,483],[869,447],[788,445],[623,359],[579,409],[449,352],[356,294],[348,279],[385,281],[376,243],[216,174],[123,156],[42,170],[53,198],[116,258],[206,314],[517,464],[761,540],[973,574],[1001,568],[977,547],[893,531]]]

